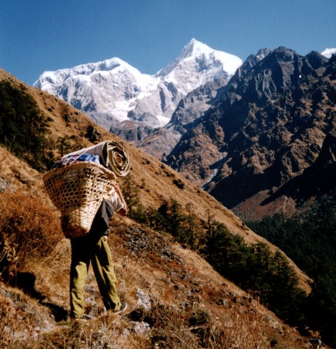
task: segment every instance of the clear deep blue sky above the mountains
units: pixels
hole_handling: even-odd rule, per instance
[[[336,0],[0,0],[0,67],[30,85],[112,57],[152,75],[193,37],[243,60],[306,55],[336,48],[335,18]]]

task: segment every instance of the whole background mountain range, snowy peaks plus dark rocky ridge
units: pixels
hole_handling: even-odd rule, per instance
[[[290,215],[329,190],[334,56],[280,47],[243,63],[192,39],[155,75],[112,58],[45,72],[34,85],[169,164],[244,220]]]

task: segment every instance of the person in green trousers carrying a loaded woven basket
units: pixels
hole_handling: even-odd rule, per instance
[[[107,235],[114,211],[128,213],[116,177],[129,170],[128,152],[115,141],[104,141],[65,155],[44,175],[47,192],[61,212],[62,231],[71,242],[71,319],[91,318],[85,314],[84,292],[90,263],[104,308],[114,313],[127,308],[117,293]]]

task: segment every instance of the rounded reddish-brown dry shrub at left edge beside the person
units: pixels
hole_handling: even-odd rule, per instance
[[[63,237],[57,214],[24,193],[0,194],[0,254],[22,268],[28,258],[47,256]]]

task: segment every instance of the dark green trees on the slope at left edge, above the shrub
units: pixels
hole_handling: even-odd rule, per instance
[[[36,101],[20,84],[14,87],[8,81],[0,81],[0,144],[19,159],[26,161],[38,171],[50,169],[56,154],[63,156],[80,147],[69,136],[54,140],[49,124]],[[64,118],[67,118],[66,111]]]

